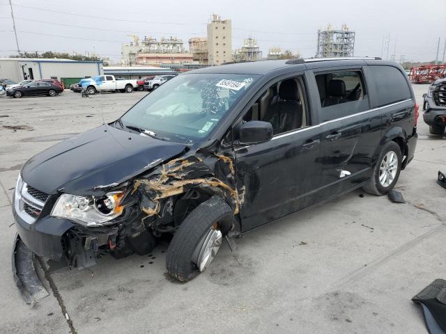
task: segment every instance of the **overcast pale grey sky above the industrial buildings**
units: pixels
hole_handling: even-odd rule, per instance
[[[390,34],[389,58],[434,60],[440,37],[441,60],[446,38],[445,0],[12,1],[20,49],[26,51],[84,54],[94,49],[120,58],[122,43],[133,34],[176,36],[187,48],[189,38],[206,36],[211,13],[232,20],[233,49],[252,36],[263,56],[273,46],[314,56],[317,30],[329,23],[335,29],[347,24],[356,32],[355,56],[386,58],[383,37]],[[0,56],[8,56],[17,49],[8,0],[0,0],[0,17]]]

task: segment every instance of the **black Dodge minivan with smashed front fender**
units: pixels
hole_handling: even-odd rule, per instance
[[[224,237],[358,187],[390,191],[413,159],[417,108],[403,68],[376,58],[180,74],[27,161],[15,225],[33,253],[79,268],[171,235],[167,271],[190,280]]]

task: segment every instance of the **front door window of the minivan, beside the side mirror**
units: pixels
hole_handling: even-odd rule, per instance
[[[270,122],[274,136],[308,124],[307,98],[302,77],[293,77],[272,84],[243,116],[243,122]]]

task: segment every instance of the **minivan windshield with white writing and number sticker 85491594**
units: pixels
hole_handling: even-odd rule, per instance
[[[206,138],[256,80],[252,74],[182,74],[121,118],[123,127],[167,141]]]

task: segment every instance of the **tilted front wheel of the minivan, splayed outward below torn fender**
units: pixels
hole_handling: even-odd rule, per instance
[[[187,282],[206,270],[233,225],[233,211],[219,196],[196,207],[181,223],[167,250],[170,276]]]

